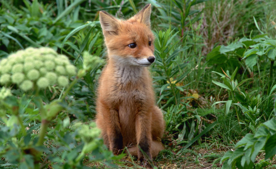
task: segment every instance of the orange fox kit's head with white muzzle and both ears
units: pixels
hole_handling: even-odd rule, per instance
[[[120,64],[150,66],[154,61],[154,35],[150,30],[151,4],[128,20],[100,11],[108,57]]]

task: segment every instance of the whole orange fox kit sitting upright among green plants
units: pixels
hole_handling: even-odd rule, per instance
[[[96,123],[114,154],[127,147],[140,162],[146,162],[140,148],[150,160],[164,149],[164,119],[147,69],[155,60],[150,13],[150,4],[128,20],[99,13],[108,59],[99,78]]]

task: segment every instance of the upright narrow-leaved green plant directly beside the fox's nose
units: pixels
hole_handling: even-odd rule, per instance
[[[156,56],[156,64],[155,68],[152,68],[154,72],[156,72],[159,76],[155,76],[154,80],[161,82],[162,86],[159,88],[160,91],[160,99],[166,100],[166,105],[174,102],[176,105],[181,102],[180,92],[184,91],[183,86],[179,85],[183,78],[187,75],[183,70],[187,63],[177,63],[175,62],[177,57],[179,57],[179,53],[183,50],[187,50],[188,47],[177,47],[177,43],[179,41],[173,41],[173,38],[177,35],[178,32],[173,34],[173,31],[167,30],[166,32],[160,31],[156,37],[155,42],[155,56]],[[171,44],[173,42],[173,44]],[[180,72],[181,75],[177,76]],[[175,78],[176,77],[176,78]],[[168,95],[173,94],[172,97],[166,97]]]

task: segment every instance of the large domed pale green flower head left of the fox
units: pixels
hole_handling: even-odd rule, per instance
[[[0,84],[17,84],[24,91],[36,85],[44,89],[57,84],[66,87],[76,75],[69,59],[51,48],[27,48],[0,60]]]

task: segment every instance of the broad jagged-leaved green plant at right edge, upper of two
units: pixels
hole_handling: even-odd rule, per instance
[[[228,46],[217,46],[207,55],[207,60],[210,63],[214,63],[219,60],[231,60],[232,57],[233,59],[238,58],[241,60],[241,62],[239,62],[241,66],[247,66],[244,69],[248,70],[249,74],[252,74],[253,66],[257,65],[259,75],[261,74],[261,66],[265,67],[266,61],[269,61],[269,82],[267,83],[266,91],[268,94],[273,85],[272,79],[275,56],[276,40],[268,38],[266,34],[262,34],[254,38],[241,38],[239,41],[233,42]],[[263,62],[261,60],[263,60]]]

